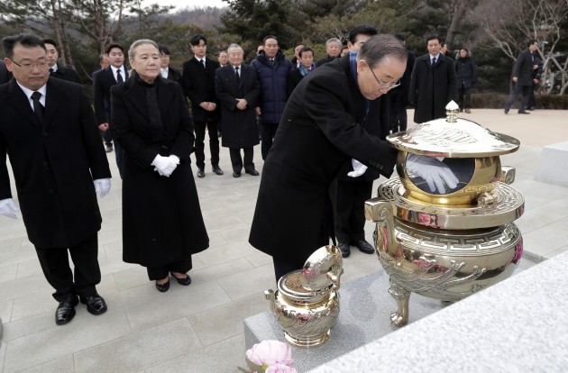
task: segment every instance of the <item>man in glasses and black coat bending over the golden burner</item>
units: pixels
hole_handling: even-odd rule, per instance
[[[400,41],[377,35],[356,59],[316,68],[290,96],[264,163],[249,237],[273,257],[277,280],[329,242],[328,190],[344,161],[358,159],[385,177],[392,173],[397,152],[364,122],[367,105],[402,77],[406,63]]]

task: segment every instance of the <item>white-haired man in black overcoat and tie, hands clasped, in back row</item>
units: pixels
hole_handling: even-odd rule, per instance
[[[215,91],[221,105],[222,145],[229,148],[233,177],[241,177],[241,170],[259,176],[254,168],[253,147],[259,144],[256,113],[261,83],[254,68],[243,64],[243,49],[231,44],[227,50],[229,63],[215,72]],[[244,160],[241,157],[243,149]]]

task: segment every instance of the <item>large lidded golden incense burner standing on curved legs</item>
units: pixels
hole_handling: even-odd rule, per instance
[[[389,294],[398,304],[391,314],[397,326],[408,322],[412,292],[463,299],[509,277],[523,252],[512,222],[523,214],[524,198],[509,186],[515,169],[499,160],[518,150],[518,140],[458,118],[453,102],[446,111],[446,119],[388,136],[399,150],[399,177],[381,184],[365,204],[367,219],[377,224],[375,247],[390,277]],[[417,155],[444,163],[457,185],[432,191],[407,168]]]

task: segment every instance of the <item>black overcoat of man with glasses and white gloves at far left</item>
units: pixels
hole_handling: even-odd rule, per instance
[[[0,86],[0,199],[14,171],[29,240],[69,248],[101,227],[93,180],[111,177],[84,86],[50,77],[40,123],[15,79]]]

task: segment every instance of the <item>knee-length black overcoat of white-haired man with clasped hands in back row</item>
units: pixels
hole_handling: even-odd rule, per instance
[[[239,84],[232,65],[217,68],[215,91],[221,105],[221,145],[230,149],[252,148],[258,145],[259,130],[256,124],[254,107],[258,106],[261,83],[254,68],[242,64]],[[244,98],[246,109],[237,109],[237,98]]]

